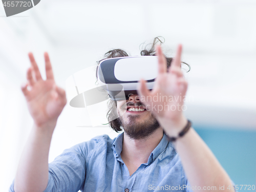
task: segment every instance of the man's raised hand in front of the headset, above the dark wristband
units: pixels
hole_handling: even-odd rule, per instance
[[[142,79],[138,93],[141,102],[147,106],[147,110],[150,109],[156,116],[162,127],[168,129],[168,127],[172,126],[172,131],[177,133],[186,124],[186,119],[182,112],[187,91],[187,81],[181,71],[182,46],[178,46],[176,57],[168,70],[161,47],[157,46],[156,51],[158,56],[158,76],[154,88],[152,91],[148,90],[145,80]],[[165,131],[167,132],[167,130]]]

